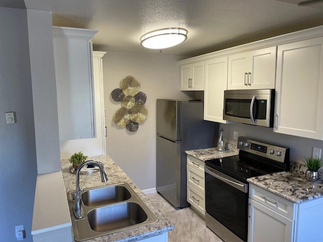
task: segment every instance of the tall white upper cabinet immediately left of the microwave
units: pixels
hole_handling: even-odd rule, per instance
[[[227,90],[228,56],[205,61],[204,119],[227,123],[223,120],[223,97]]]

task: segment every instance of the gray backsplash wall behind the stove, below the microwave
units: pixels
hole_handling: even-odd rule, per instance
[[[290,147],[290,160],[299,163],[302,163],[305,157],[312,155],[313,147],[323,149],[323,141],[274,133],[273,128],[255,127],[236,123],[221,124],[221,128],[224,129],[224,137],[230,144],[237,145],[237,141],[233,139],[233,132],[238,131],[238,136],[246,136],[260,141],[288,146]]]

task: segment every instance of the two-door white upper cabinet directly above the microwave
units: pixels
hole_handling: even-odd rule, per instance
[[[275,89],[276,48],[229,55],[228,90]]]

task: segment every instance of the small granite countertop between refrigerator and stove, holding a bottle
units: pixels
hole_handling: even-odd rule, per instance
[[[228,144],[225,151],[219,151],[217,147],[207,148],[207,149],[198,149],[198,150],[187,150],[186,154],[193,156],[196,159],[201,161],[223,158],[227,156],[238,155],[239,150],[236,145]]]

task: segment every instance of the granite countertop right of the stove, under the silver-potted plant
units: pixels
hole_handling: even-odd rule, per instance
[[[305,174],[299,171],[283,171],[261,175],[248,178],[247,181],[297,204],[323,197],[321,180],[310,183],[305,179]]]

